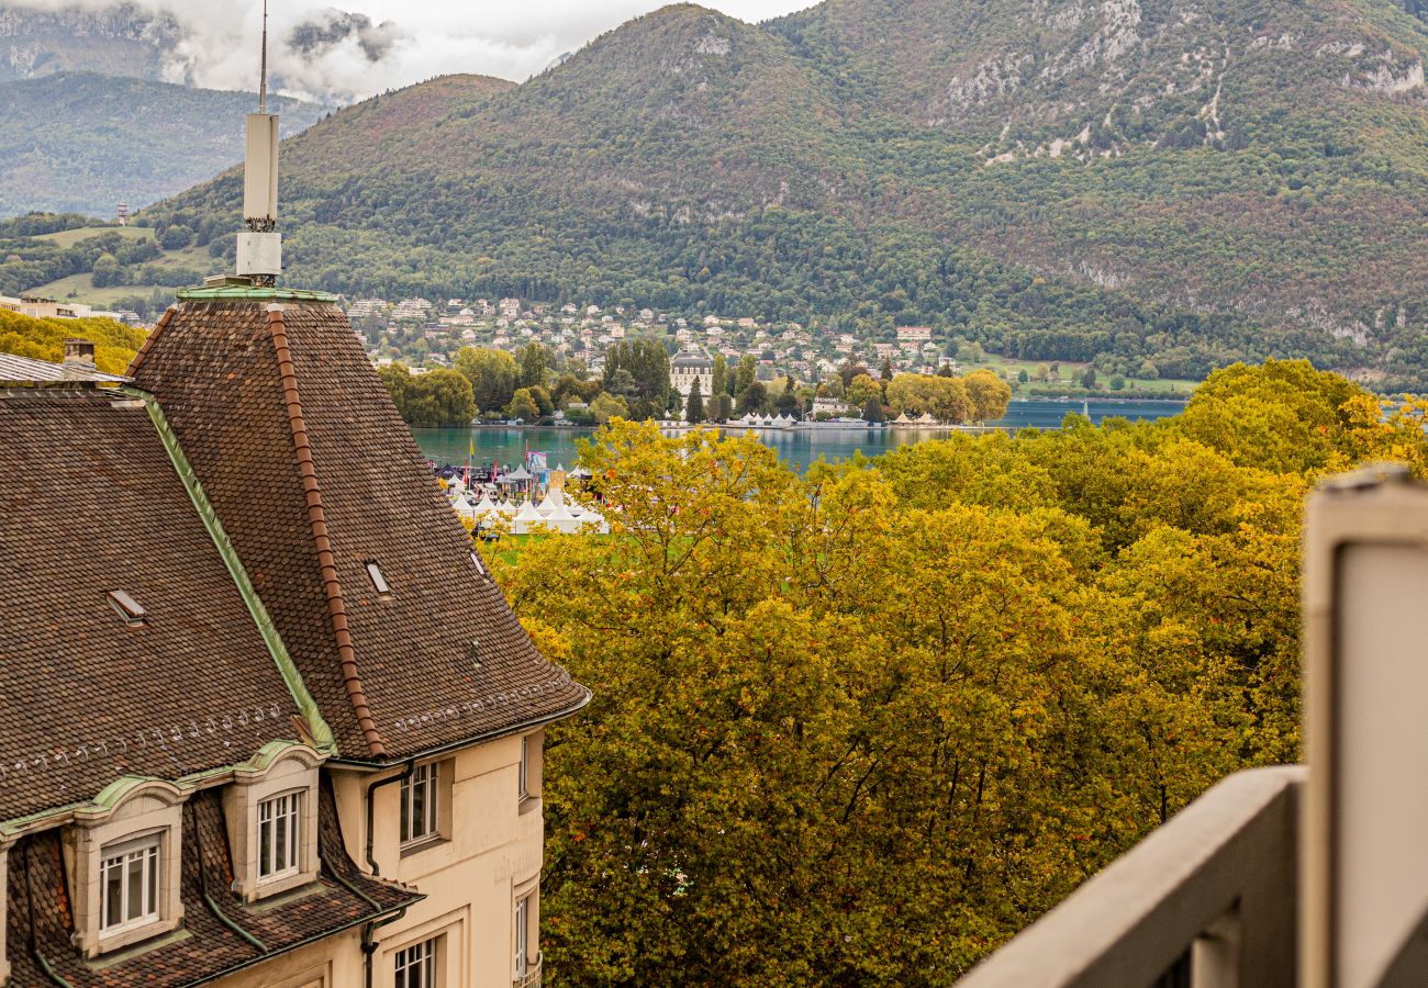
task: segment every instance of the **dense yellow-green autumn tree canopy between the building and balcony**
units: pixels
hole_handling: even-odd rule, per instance
[[[594,690],[550,730],[553,985],[948,985],[1228,772],[1299,757],[1315,481],[1428,407],[1304,361],[1158,423],[795,474],[613,423],[614,531],[484,548]]]

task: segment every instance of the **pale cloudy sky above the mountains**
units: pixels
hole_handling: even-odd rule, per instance
[[[11,0],[6,6],[104,9],[110,0]],[[813,0],[703,0],[757,23]],[[261,0],[136,0],[186,27],[170,81],[257,89]],[[294,96],[353,101],[466,71],[521,81],[661,0],[270,0],[273,74]],[[294,34],[297,31],[297,34]],[[296,40],[300,39],[300,40]]]

